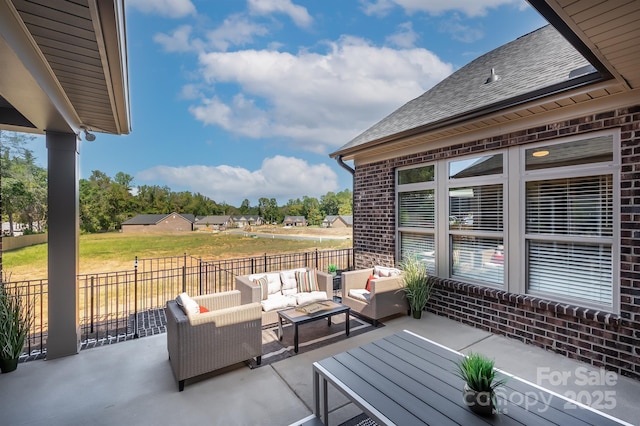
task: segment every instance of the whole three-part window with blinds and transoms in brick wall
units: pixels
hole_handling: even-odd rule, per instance
[[[432,274],[619,310],[619,134],[397,172],[397,253]]]

